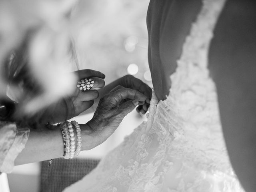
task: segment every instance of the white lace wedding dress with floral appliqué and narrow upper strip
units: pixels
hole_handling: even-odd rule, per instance
[[[242,192],[230,165],[209,77],[208,49],[225,0],[204,0],[183,45],[170,95],[65,192]]]

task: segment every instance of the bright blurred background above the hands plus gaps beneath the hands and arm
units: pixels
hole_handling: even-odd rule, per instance
[[[152,87],[147,58],[148,3],[149,0],[76,2],[68,14],[75,50],[68,70],[99,70],[106,75],[106,84],[132,74]],[[91,117],[92,114],[81,114],[76,121],[85,123]],[[145,116],[133,111],[106,142],[90,151],[81,152],[79,158],[101,158],[144,120]],[[11,192],[39,191],[40,163],[16,166],[12,174],[8,174],[8,182]]]

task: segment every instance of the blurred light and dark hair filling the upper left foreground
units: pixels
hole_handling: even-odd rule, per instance
[[[68,21],[76,0],[0,1],[0,120],[44,122],[73,91]],[[62,100],[67,110],[70,102]],[[48,118],[54,110],[48,111]],[[15,116],[15,114],[18,114]]]

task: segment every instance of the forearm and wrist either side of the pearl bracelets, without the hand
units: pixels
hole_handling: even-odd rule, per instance
[[[82,149],[89,150],[94,147],[92,131],[86,124],[80,124],[82,133]],[[76,134],[75,134],[76,139]],[[75,140],[76,141],[76,140]],[[77,143],[77,142],[76,142]],[[58,126],[52,129],[30,130],[30,135],[25,148],[17,156],[15,165],[40,162],[54,158],[60,158],[64,153],[62,133]]]

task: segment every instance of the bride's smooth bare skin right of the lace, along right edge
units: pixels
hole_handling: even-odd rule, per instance
[[[255,10],[255,1],[228,1],[209,55],[228,154],[246,192],[256,189]]]

